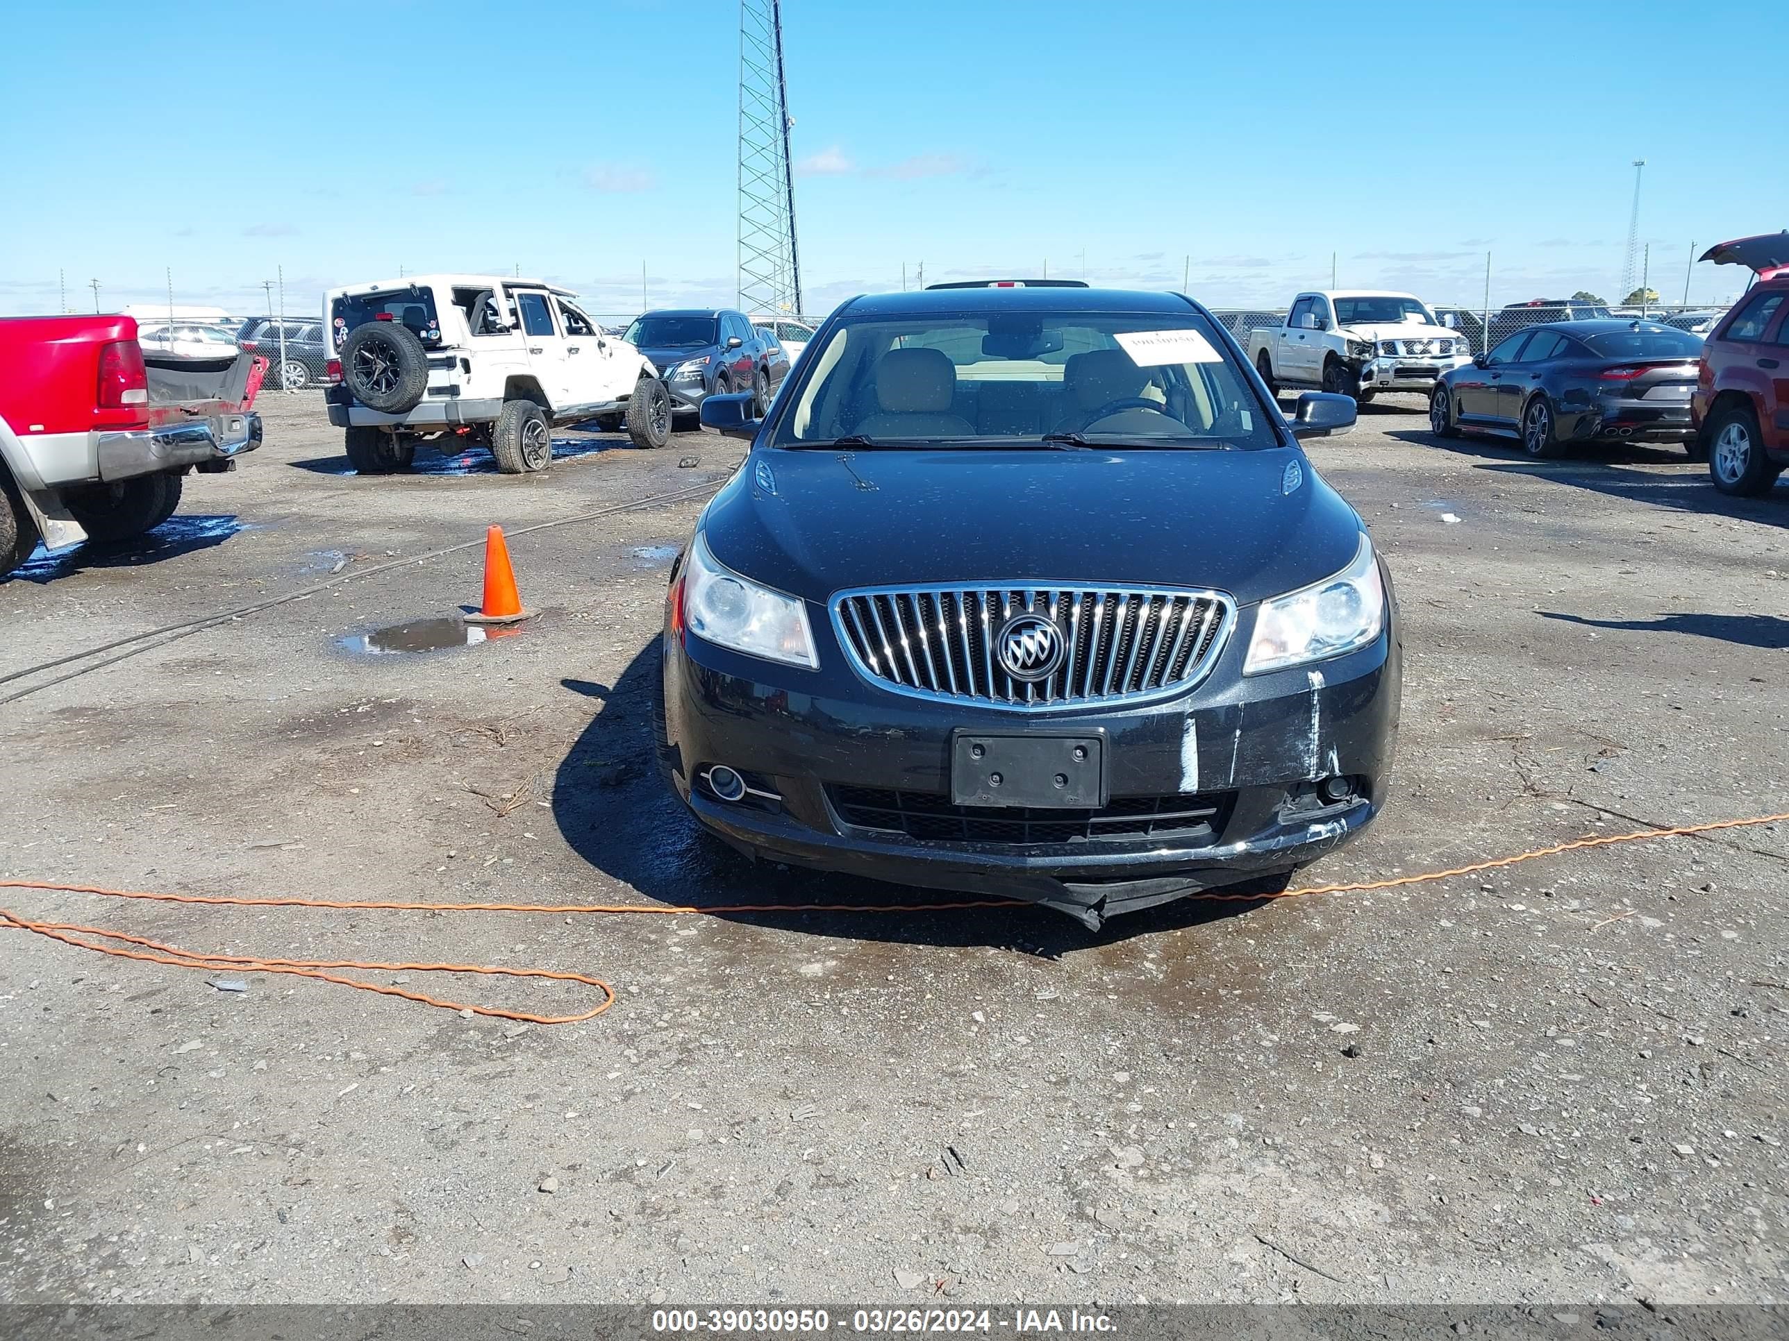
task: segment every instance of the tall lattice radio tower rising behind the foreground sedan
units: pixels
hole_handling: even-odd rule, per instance
[[[739,306],[801,311],[782,0],[739,0]]]

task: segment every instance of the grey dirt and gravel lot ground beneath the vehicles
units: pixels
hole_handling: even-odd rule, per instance
[[[349,474],[315,399],[129,554],[0,586],[0,674],[335,586],[0,706],[0,871],[199,894],[923,898],[750,867],[651,776],[642,653],[739,443],[565,434],[540,477]],[[1399,796],[1317,880],[1789,810],[1789,490],[1676,451],[1533,465],[1394,397],[1318,468],[1404,611]],[[682,465],[696,458],[694,465]],[[52,672],[54,674],[54,672]],[[34,679],[0,685],[0,696]],[[0,935],[0,1298],[1784,1300],[1782,826],[1088,939],[1043,912],[521,917],[122,905],[34,919],[615,983],[522,1028]],[[565,983],[410,978],[524,1010]],[[1347,1028],[1354,1026],[1354,1028]]]

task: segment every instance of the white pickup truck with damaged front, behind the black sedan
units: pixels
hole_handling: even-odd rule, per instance
[[[1428,395],[1472,350],[1412,293],[1313,290],[1292,300],[1283,325],[1249,333],[1249,358],[1276,393],[1320,388],[1365,404],[1376,392]]]

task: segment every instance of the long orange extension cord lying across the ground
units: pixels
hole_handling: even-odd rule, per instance
[[[1780,815],[1755,815],[1751,819],[1721,819],[1708,824],[1683,824],[1671,830],[1637,830],[1633,833],[1607,833],[1589,839],[1573,839],[1571,842],[1558,842],[1551,848],[1533,848],[1526,853],[1515,853],[1513,856],[1496,856],[1485,862],[1472,862],[1471,865],[1456,865],[1447,871],[1424,871],[1415,876],[1397,876],[1394,880],[1369,880],[1351,885],[1310,885],[1306,889],[1288,889],[1279,894],[1224,894],[1215,890],[1206,890],[1191,894],[1190,898],[1215,899],[1224,903],[1261,903],[1263,899],[1295,899],[1311,894],[1361,894],[1376,889],[1397,889],[1401,885],[1424,885],[1437,880],[1453,880],[1456,876],[1471,876],[1480,871],[1497,871],[1506,865],[1517,865],[1519,862],[1533,862],[1540,856],[1558,856],[1560,853],[1578,851],[1580,848],[1610,848],[1617,842],[1644,842],[1648,839],[1676,839],[1692,833],[1714,833],[1716,830],[1739,830],[1753,828],[1757,824],[1776,824],[1789,821],[1789,812]],[[39,889],[63,894],[102,894],[114,899],[147,899],[150,903],[227,903],[234,907],[247,908],[347,908],[347,910],[386,910],[386,912],[522,912],[522,914],[651,914],[658,917],[666,915],[725,915],[725,914],[776,914],[776,912],[902,912],[902,914],[925,914],[939,910],[955,908],[1025,908],[1030,907],[1023,899],[968,899],[954,903],[730,903],[730,905],[712,905],[707,908],[698,907],[674,907],[674,905],[653,905],[642,907],[635,903],[408,903],[399,899],[301,899],[292,898],[274,898],[274,899],[254,899],[236,894],[154,894],[145,890],[125,890],[125,889],[102,889],[98,885],[55,885],[41,880],[0,880],[0,889]],[[75,946],[77,949],[93,949],[100,955],[114,955],[118,958],[143,960],[145,964],[166,964],[175,969],[200,969],[206,973],[290,973],[299,978],[318,978],[322,982],[333,982],[340,987],[354,987],[361,992],[379,992],[381,996],[401,996],[406,1001],[420,1001],[422,1005],[438,1007],[442,1010],[460,1010],[472,1012],[476,1016],[490,1016],[494,1019],[513,1019],[524,1025],[578,1025],[585,1019],[596,1019],[608,1007],[615,1003],[615,989],[610,987],[601,978],[592,978],[583,973],[556,973],[553,969],[504,969],[488,964],[372,964],[363,960],[304,960],[304,958],[256,958],[252,955],[206,955],[190,949],[181,949],[179,946],[165,946],[159,940],[148,940],[140,935],[127,935],[123,932],[107,932],[100,926],[81,926],[79,923],[36,923],[23,917],[9,908],[0,908],[0,928],[18,928],[21,932],[34,932],[36,935],[48,937],[50,940],[61,940],[66,946]],[[97,937],[100,942],[120,942],[120,944],[95,944],[93,940],[84,940],[82,937]],[[143,946],[143,949],[125,949],[123,946]],[[356,978],[343,978],[340,974],[329,973],[329,969],[360,969],[372,973],[483,973],[504,978],[549,978],[555,982],[576,982],[585,987],[594,987],[603,994],[603,999],[594,1010],[585,1010],[578,1016],[531,1016],[522,1010],[501,1010],[497,1007],[479,1007],[467,1005],[463,1001],[444,1001],[435,996],[426,996],[424,992],[408,992],[403,987],[360,982]]]

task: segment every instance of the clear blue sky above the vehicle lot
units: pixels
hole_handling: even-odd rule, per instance
[[[7,21],[0,313],[288,309],[521,266],[605,313],[732,302],[733,0],[70,0]],[[1420,13],[1420,18],[1410,14]],[[170,14],[179,14],[172,20]],[[1789,225],[1778,4],[784,0],[809,309],[1039,274],[1619,299]],[[1775,34],[1775,36],[1773,36]],[[1698,247],[1698,250],[1700,250]],[[1084,256],[1084,259],[1082,259]],[[1691,299],[1742,288],[1696,266]]]

